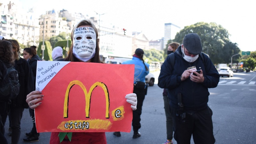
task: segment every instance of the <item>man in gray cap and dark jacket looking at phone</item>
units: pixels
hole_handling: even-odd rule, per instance
[[[173,61],[174,60],[174,61]],[[178,144],[215,143],[208,88],[218,85],[220,76],[209,57],[202,53],[200,37],[187,34],[178,49],[164,61],[158,86],[168,89],[174,139]]]

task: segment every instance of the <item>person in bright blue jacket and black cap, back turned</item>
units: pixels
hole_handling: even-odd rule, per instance
[[[124,61],[122,64],[134,64],[134,86],[133,93],[137,95],[137,110],[132,111],[132,127],[133,127],[133,139],[140,137],[139,129],[140,124],[140,115],[142,113],[142,104],[145,99],[147,92],[147,85],[145,84],[145,76],[149,73],[149,64],[145,63],[143,60],[144,51],[140,48],[136,49],[135,54],[132,57],[132,60]],[[114,132],[114,135],[117,137],[121,136],[120,132]]]

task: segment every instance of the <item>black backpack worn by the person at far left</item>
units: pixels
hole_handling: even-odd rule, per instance
[[[10,102],[20,92],[18,71],[12,66],[7,66],[2,60],[2,77],[0,82],[0,101]]]

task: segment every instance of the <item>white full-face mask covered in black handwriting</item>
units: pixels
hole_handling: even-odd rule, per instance
[[[91,27],[76,28],[73,34],[73,54],[76,58],[88,61],[95,55],[96,33]]]

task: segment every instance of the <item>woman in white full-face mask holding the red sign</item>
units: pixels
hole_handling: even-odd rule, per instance
[[[71,62],[94,62],[102,63],[99,55],[99,39],[98,31],[90,20],[81,20],[71,33],[72,44],[68,52],[68,56],[62,61]],[[27,96],[27,103],[30,108],[31,117],[34,116],[34,109],[42,104],[43,93],[33,91]],[[36,98],[36,99],[35,99]],[[137,96],[130,93],[125,96],[126,101],[131,104],[131,108],[136,110]],[[73,132],[72,140],[69,141],[68,136],[61,136],[62,132],[52,132],[50,144],[56,143],[107,143],[105,132]]]

